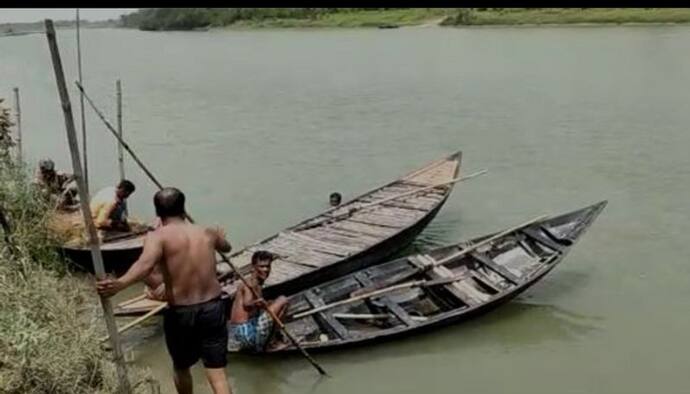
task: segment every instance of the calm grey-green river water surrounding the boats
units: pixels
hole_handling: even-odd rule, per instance
[[[58,32],[69,80],[74,33]],[[458,149],[466,174],[489,174],[455,188],[417,248],[609,200],[514,302],[317,355],[329,379],[298,356],[232,357],[237,392],[687,392],[690,27],[104,29],[82,46],[96,103],[114,122],[122,79],[126,138],[236,247],[319,212],[333,190],[347,199]],[[0,39],[0,76],[0,97],[21,90],[25,155],[69,168],[45,37]],[[116,182],[116,150],[87,114],[94,189]],[[131,161],[127,174],[130,209],[152,218],[153,186]],[[170,392],[160,322],[126,345]],[[194,377],[210,392],[199,366]]]

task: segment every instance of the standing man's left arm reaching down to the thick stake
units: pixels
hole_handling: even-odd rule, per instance
[[[98,293],[111,297],[134,282],[142,280],[153,271],[163,257],[163,244],[155,234],[148,234],[144,240],[144,251],[127,273],[117,279],[104,279],[96,282]]]

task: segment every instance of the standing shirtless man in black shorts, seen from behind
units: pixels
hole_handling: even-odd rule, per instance
[[[158,266],[165,283],[163,330],[173,360],[178,393],[192,393],[189,368],[199,358],[213,392],[229,394],[225,377],[228,332],[227,305],[216,279],[214,251],[230,251],[223,230],[207,229],[185,221],[184,194],[168,187],[153,198],[162,226],[149,232],[141,257],[118,279],[96,284],[99,294],[112,296],[144,279]]]

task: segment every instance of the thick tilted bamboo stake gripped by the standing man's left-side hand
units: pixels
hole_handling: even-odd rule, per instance
[[[82,215],[84,216],[84,224],[88,230],[91,258],[93,260],[96,277],[98,279],[103,279],[105,278],[103,256],[101,255],[101,250],[98,245],[96,226],[93,224],[91,211],[89,209],[89,194],[86,190],[84,175],[82,174],[82,167],[79,159],[79,143],[77,141],[77,132],[74,127],[72,106],[69,100],[69,93],[67,92],[67,85],[65,84],[65,73],[62,69],[62,61],[60,60],[60,52],[57,46],[57,38],[55,37],[53,21],[46,19],[45,28],[46,36],[48,38],[48,46],[50,47],[50,54],[53,60],[53,69],[55,70],[55,81],[57,82],[58,92],[60,93],[60,102],[62,104],[62,112],[65,117],[67,142],[70,147],[70,156],[72,157],[72,169],[74,171],[74,178],[77,181],[77,186],[79,188],[79,198],[81,201],[81,204],[79,205],[81,206]],[[122,347],[120,345],[120,336],[117,334],[117,326],[115,325],[115,317],[113,316],[113,307],[109,298],[100,297],[100,300],[101,306],[103,307],[106,326],[110,335],[110,341],[115,354],[115,364],[117,365],[117,375],[119,381],[118,391],[120,393],[128,394],[132,392],[132,389],[127,378],[127,369],[125,367],[125,360],[122,354]]]

